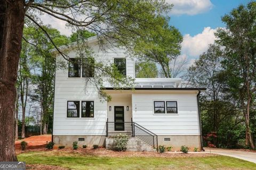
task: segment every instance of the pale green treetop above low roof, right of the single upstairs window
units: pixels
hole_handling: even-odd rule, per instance
[[[135,63],[135,78],[157,78],[158,70],[156,63],[137,62]]]

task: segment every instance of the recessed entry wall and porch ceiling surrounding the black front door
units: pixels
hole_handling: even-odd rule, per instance
[[[108,107],[111,106],[111,111],[108,109],[108,121],[114,122],[114,106],[124,106],[124,121],[131,122],[132,117],[132,95],[131,94],[111,94],[111,101],[108,102]],[[129,111],[126,111],[126,106],[129,106]]]

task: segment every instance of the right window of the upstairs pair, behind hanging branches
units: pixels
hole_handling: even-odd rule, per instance
[[[94,77],[94,58],[84,58],[83,60],[83,78],[93,78]]]

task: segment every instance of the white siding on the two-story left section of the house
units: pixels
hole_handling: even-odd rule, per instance
[[[95,53],[95,61],[111,64],[114,58],[124,58],[123,49],[106,49],[100,51],[96,43],[89,44]],[[75,50],[68,56],[75,57]],[[53,135],[106,135],[107,102],[100,101],[97,90],[87,84],[85,78],[69,78],[68,62],[57,56],[57,62],[66,62],[66,69],[56,69]],[[82,74],[82,73],[81,73]],[[134,63],[131,58],[126,58],[126,74],[134,77]],[[81,117],[81,104],[79,118],[67,117],[67,101],[94,101],[94,117]],[[114,109],[114,108],[113,108]]]

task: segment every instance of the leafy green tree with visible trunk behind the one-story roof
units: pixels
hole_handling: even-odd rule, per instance
[[[178,29],[169,26],[168,22],[169,18],[160,18],[157,27],[148,30],[147,37],[138,40],[133,55],[158,63],[164,77],[172,78],[170,62],[180,54],[182,35]]]

